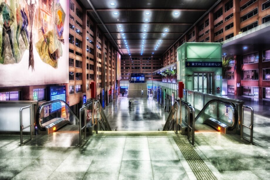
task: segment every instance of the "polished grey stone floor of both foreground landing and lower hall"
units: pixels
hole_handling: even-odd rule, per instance
[[[207,172],[194,169],[191,161],[203,161],[216,179],[269,179],[269,117],[254,114],[254,145],[241,140],[239,135],[225,135],[206,125],[196,125],[199,130],[195,132],[196,146],[192,147],[190,158],[194,155],[199,159],[190,160],[185,154],[191,151],[180,149],[175,140],[186,136],[149,132],[151,128],[161,128],[168,113],[151,97],[132,102],[129,108],[128,98],[120,97],[108,106],[105,113],[118,132],[94,134],[83,147],[75,147],[77,137],[70,144],[68,135],[65,138],[61,133],[35,137],[24,146],[18,145],[18,135],[0,135],[0,179],[193,180],[195,174]],[[245,116],[248,115],[247,112]],[[133,132],[140,129],[148,132]]]

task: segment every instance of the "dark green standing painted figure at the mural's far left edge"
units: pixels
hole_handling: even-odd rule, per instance
[[[11,47],[12,55],[15,58],[15,51],[14,51],[14,44],[13,44],[13,38],[12,38],[12,31],[11,31],[11,25],[14,23],[15,17],[14,14],[7,4],[7,0],[5,2],[2,2],[0,5],[0,16],[2,15],[3,18],[3,28],[2,28],[2,46],[1,46],[1,59],[0,63],[4,63],[4,51],[6,48],[5,40],[6,40],[6,34],[8,35],[9,44]]]

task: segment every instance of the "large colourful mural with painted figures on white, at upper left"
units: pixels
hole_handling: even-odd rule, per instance
[[[0,87],[67,83],[69,1],[0,3]]]

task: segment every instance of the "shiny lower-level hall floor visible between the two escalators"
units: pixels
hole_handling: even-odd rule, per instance
[[[131,100],[131,107],[129,107]],[[156,100],[149,98],[118,97],[104,110],[112,129],[117,131],[157,131],[162,130],[168,112]]]

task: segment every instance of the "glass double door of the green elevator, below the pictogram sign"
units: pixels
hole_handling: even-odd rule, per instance
[[[194,72],[194,90],[213,94],[214,79],[213,72]]]

